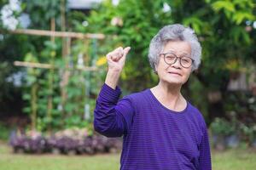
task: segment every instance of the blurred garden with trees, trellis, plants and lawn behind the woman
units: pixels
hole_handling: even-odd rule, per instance
[[[205,117],[213,169],[253,169],[255,9],[254,0],[1,0],[0,169],[118,169],[121,139],[92,126],[105,54],[131,46],[123,96],[153,87],[148,45],[174,23],[203,48],[183,94]]]

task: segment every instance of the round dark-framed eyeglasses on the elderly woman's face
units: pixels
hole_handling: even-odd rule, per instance
[[[161,55],[161,54],[160,54]],[[179,64],[183,66],[183,68],[189,68],[194,63],[194,59],[191,59],[190,57],[177,57],[176,54],[173,53],[166,53],[162,54],[164,56],[164,60],[167,65],[172,65],[176,63],[177,59],[179,59]]]

